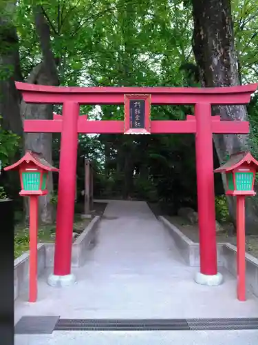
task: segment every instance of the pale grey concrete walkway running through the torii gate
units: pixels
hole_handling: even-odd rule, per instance
[[[238,302],[235,278],[229,273],[221,270],[224,284],[208,287],[195,284],[196,270],[184,264],[173,239],[144,201],[110,201],[99,224],[96,247],[87,264],[74,270],[78,283],[68,288],[50,287],[46,284],[50,272],[45,272],[39,279],[38,302],[29,304],[27,295],[19,297],[15,321],[23,315],[80,319],[258,317],[258,299],[248,294],[247,302]],[[247,345],[257,344],[258,331],[58,331],[51,336],[17,335],[15,344],[84,342]]]

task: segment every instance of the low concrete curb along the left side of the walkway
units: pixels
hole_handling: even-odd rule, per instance
[[[100,216],[96,216],[86,226],[83,233],[78,236],[72,245],[72,267],[80,267],[85,264],[89,250],[96,243],[96,229]],[[19,297],[21,290],[28,286],[29,282],[29,252],[23,253],[14,260],[14,300]],[[54,266],[54,244],[38,244],[38,276],[45,268]]]

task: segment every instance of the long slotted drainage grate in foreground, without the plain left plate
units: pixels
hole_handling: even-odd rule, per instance
[[[58,319],[54,331],[202,331],[258,329],[258,318]]]

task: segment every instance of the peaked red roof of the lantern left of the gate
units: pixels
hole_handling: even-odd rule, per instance
[[[47,171],[56,171],[58,172],[57,168],[54,168],[48,161],[45,160],[43,155],[39,152],[34,152],[32,150],[27,150],[25,152],[25,155],[16,163],[12,164],[12,166],[6,166],[4,170],[17,170],[19,169],[19,166],[23,163],[34,163],[36,166],[39,166],[39,168]]]

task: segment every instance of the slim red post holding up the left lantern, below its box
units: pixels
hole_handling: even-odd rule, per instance
[[[29,302],[36,302],[38,295],[38,197],[30,197],[30,283]]]

